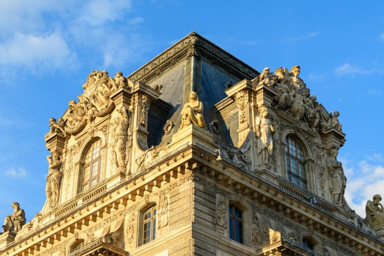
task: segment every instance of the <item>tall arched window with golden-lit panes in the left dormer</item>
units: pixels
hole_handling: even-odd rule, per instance
[[[101,172],[101,139],[95,140],[88,148],[84,158],[81,190],[85,191],[100,181]]]

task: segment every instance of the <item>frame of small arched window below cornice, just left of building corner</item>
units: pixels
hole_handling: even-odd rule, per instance
[[[155,210],[156,214],[155,215],[151,214],[150,219],[144,219],[144,213],[148,209],[152,209],[152,212],[153,212],[153,210]],[[151,241],[156,239],[156,236],[158,236],[158,232],[157,232],[157,222],[158,222],[157,220],[158,219],[157,218],[158,218],[158,210],[157,210],[157,203],[156,202],[149,202],[149,203],[145,204],[145,206],[143,206],[139,210],[139,212],[138,212],[138,225],[137,225],[137,227],[138,227],[137,228],[137,246],[150,243]],[[153,224],[153,220],[154,220],[154,224]],[[149,241],[144,242],[144,224],[148,223],[148,222],[151,222],[150,223],[150,227],[151,227],[150,239],[149,239]]]

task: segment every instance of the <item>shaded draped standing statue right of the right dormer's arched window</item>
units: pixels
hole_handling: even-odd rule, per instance
[[[346,177],[341,166],[341,162],[336,160],[337,149],[329,150],[329,156],[326,159],[326,166],[330,174],[330,192],[334,204],[343,204],[343,195],[345,191]]]

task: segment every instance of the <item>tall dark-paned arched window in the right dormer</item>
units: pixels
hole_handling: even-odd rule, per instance
[[[288,179],[306,189],[305,156],[301,145],[291,136],[285,138],[285,163]]]

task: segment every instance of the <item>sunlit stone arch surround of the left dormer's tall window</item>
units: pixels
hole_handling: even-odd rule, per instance
[[[84,165],[85,165],[85,157],[86,153],[88,152],[88,149],[92,146],[92,144],[100,139],[100,152],[101,155],[101,166],[100,166],[100,173],[99,173],[99,180],[98,182],[94,185],[97,186],[97,184],[101,183],[105,179],[105,160],[106,160],[106,143],[105,143],[105,137],[104,134],[101,131],[95,131],[93,137],[89,137],[88,139],[85,140],[85,142],[81,145],[79,148],[79,153],[76,155],[76,162],[74,164],[75,170],[77,170],[77,182],[75,186],[75,191],[74,194],[79,194],[83,192],[84,190],[82,189],[82,184],[83,184],[83,171],[84,171]],[[94,187],[92,186],[92,187]],[[86,189],[85,191],[88,191]]]

